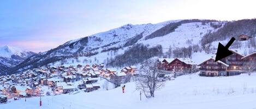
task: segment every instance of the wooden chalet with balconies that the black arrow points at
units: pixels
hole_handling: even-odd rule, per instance
[[[227,68],[229,65],[222,61],[215,62],[215,59],[210,58],[200,63],[200,76],[227,76]]]

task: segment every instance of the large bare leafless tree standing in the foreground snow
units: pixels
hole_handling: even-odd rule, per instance
[[[154,97],[154,91],[164,86],[164,81],[159,79],[157,61],[148,59],[139,70],[137,89],[142,90],[147,98]]]

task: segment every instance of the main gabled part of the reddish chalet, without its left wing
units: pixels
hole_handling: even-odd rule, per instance
[[[167,65],[167,70],[175,72],[190,72],[195,63],[188,58],[175,58]]]

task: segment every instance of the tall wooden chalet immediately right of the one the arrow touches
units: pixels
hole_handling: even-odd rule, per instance
[[[243,67],[243,60],[242,57],[243,55],[237,53],[234,50],[230,50],[233,54],[225,57],[224,59],[221,59],[222,62],[226,63],[229,65],[227,69],[227,75],[239,75],[241,73],[244,73],[244,70],[242,69]]]

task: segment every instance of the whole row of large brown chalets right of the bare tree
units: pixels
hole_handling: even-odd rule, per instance
[[[187,58],[158,59],[157,67],[171,72],[190,73],[189,69],[197,66],[200,70],[200,76],[231,76],[256,70],[256,52],[244,56],[234,50],[230,51],[233,52],[232,55],[217,62],[213,57],[199,65],[195,65],[193,61]]]

